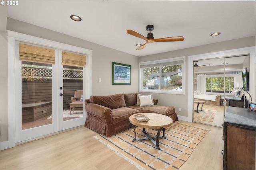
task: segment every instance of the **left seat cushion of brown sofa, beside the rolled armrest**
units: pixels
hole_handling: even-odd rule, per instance
[[[129,107],[120,107],[117,109],[112,109],[112,122],[118,123],[127,119],[129,120],[130,115],[133,115],[135,113],[140,113],[140,111]]]

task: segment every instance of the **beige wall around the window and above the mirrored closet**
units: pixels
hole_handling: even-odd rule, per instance
[[[188,75],[188,56],[191,55],[199,55],[205,53],[213,53],[217,51],[225,51],[231,49],[239,49],[244,47],[252,47],[255,46],[255,36],[245,37],[240,39],[234,39],[230,41],[223,41],[220,43],[213,43],[208,45],[202,45],[198,47],[192,47],[187,49],[181,49],[176,51],[170,51],[166,53],[160,53],[156,55],[148,55],[139,58],[139,62],[145,61],[154,61],[160,59],[169,59],[174,57],[186,56],[186,75]],[[144,93],[150,94],[150,93]],[[159,94],[153,93],[153,97],[158,99],[159,105],[164,106],[173,106],[176,109],[176,113],[180,116],[188,117],[188,76],[186,76],[186,95],[178,95],[178,94]],[[179,107],[182,108],[182,111],[178,111]]]

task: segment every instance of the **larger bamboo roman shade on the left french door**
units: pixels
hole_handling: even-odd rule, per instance
[[[20,60],[36,63],[55,64],[55,50],[19,44]]]

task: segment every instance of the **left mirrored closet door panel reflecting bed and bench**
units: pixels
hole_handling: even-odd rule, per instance
[[[222,126],[223,63],[224,58],[208,59],[197,61],[197,66],[194,66],[194,122]]]

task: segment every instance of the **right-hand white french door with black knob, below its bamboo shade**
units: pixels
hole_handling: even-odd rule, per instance
[[[61,57],[62,52],[62,50],[58,50],[58,55]],[[59,63],[61,63],[60,60]],[[84,125],[86,119],[84,110],[84,68],[64,63],[58,64],[58,77],[59,129],[65,130]]]

